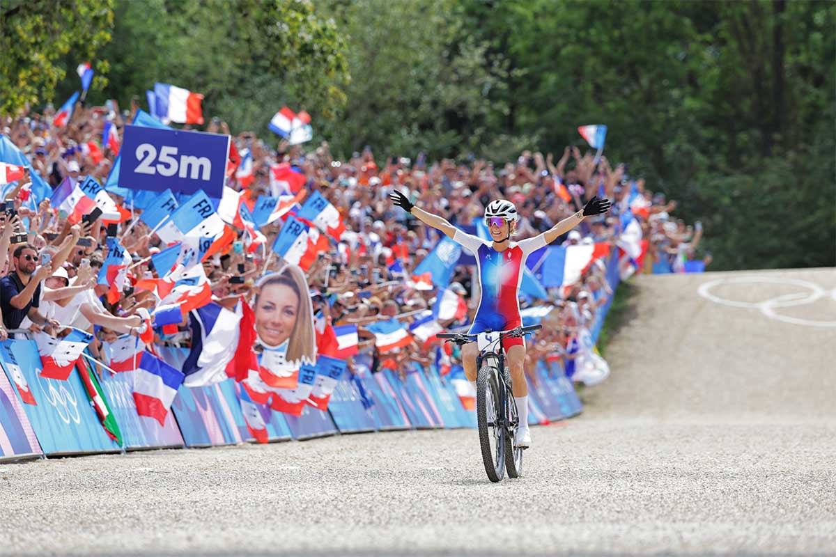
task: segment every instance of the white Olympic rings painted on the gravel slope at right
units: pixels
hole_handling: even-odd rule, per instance
[[[798,286],[806,289],[806,292],[793,292],[791,294],[784,294],[782,296],[775,296],[764,301],[737,301],[728,300],[711,293],[711,289],[719,285],[728,284],[779,284]],[[774,319],[779,322],[792,323],[793,325],[805,325],[808,327],[836,327],[836,321],[815,321],[812,319],[803,319],[800,317],[785,316],[778,313],[776,310],[781,307],[804,306],[820,300],[824,297],[831,297],[836,300],[836,288],[832,291],[826,291],[822,286],[810,281],[802,281],[800,279],[777,278],[772,276],[735,276],[729,278],[721,278],[716,281],[708,281],[703,283],[697,290],[700,296],[711,300],[717,304],[731,307],[744,307],[747,309],[760,310],[764,316]]]

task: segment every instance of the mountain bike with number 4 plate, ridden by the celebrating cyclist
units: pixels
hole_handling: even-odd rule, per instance
[[[523,473],[523,448],[514,446],[519,419],[517,403],[511,390],[511,373],[505,366],[505,351],[502,339],[523,337],[537,331],[542,325],[516,327],[509,331],[485,331],[476,335],[467,333],[441,333],[439,338],[448,339],[458,346],[477,342],[477,389],[476,414],[479,429],[479,444],[482,448],[482,462],[492,482],[505,476],[518,478]]]

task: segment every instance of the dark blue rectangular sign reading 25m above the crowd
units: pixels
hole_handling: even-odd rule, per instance
[[[179,129],[125,126],[119,185],[132,190],[203,190],[221,197],[229,136]]]

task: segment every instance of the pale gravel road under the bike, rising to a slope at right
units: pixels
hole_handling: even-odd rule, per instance
[[[823,294],[764,313],[715,280]],[[0,554],[836,553],[836,327],[767,316],[836,321],[836,271],[634,288],[612,375],[522,479],[490,484],[470,430],[0,464]]]

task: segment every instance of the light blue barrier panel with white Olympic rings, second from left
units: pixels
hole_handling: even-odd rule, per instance
[[[34,341],[3,341],[3,359],[13,358],[23,372],[35,404],[23,404],[38,442],[47,455],[120,452],[89,405],[74,368],[66,380],[41,377]]]

